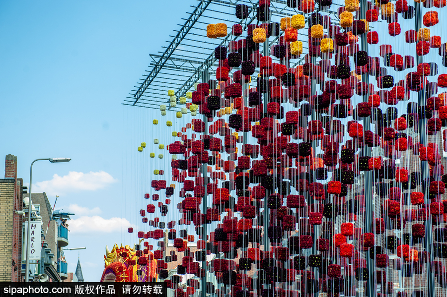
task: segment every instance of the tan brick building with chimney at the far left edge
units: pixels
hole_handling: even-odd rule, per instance
[[[0,179],[0,282],[21,281],[23,179],[17,178],[17,157],[5,158]]]

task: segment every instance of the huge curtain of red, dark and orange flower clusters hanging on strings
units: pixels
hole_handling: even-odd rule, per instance
[[[296,279],[303,296],[355,296],[375,285],[371,292],[384,296],[398,282],[391,268],[403,278],[431,273],[445,286],[435,258],[447,255],[447,47],[435,34],[446,1],[362,7],[345,0],[337,23],[325,12],[331,0],[286,2],[296,12],[282,15],[270,0],[255,9],[238,4],[235,17],[243,21],[228,24],[231,36],[227,24],[208,25],[208,38],[228,38],[211,53],[211,78],[193,92],[169,90],[160,106],[166,115],[186,104],[177,121],[166,121],[181,129],[168,133],[174,140],[165,148],[154,139],[171,155],[166,172],[174,183],[155,169],[144,195],[158,201],[162,191],[161,216],[176,215],[165,226],[148,220],[155,205],[139,213],[154,230],[138,237],[160,239],[158,278],[177,297],[197,289],[217,297],[288,296]],[[409,29],[414,5],[427,9],[420,27]],[[190,119],[188,110],[201,117]],[[194,230],[197,240],[187,234]],[[149,248],[140,249],[138,265],[149,265],[140,261]],[[177,254],[171,276],[165,264]],[[219,289],[211,281],[193,285],[207,273]]]

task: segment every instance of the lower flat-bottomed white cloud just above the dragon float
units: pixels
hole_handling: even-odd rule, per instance
[[[127,231],[127,228],[134,227],[125,218],[104,219],[100,216],[83,216],[78,219],[72,219],[68,223],[72,234],[124,232]]]

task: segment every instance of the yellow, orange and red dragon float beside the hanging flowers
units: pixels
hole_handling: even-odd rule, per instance
[[[156,281],[155,273],[157,260],[153,259],[153,253],[149,251],[146,263],[139,261],[137,250],[129,245],[123,247],[115,243],[112,250],[106,245],[106,254],[104,255],[104,271],[101,276],[102,282],[120,282],[120,283],[145,283]],[[152,260],[149,260],[152,258]]]

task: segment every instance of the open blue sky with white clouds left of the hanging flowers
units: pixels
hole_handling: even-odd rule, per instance
[[[52,204],[59,195],[56,209],[76,213],[69,247],[87,247],[80,260],[90,282],[100,278],[106,244],[134,243],[122,232],[125,220],[133,221],[122,197],[132,195],[125,191],[135,182],[123,160],[138,145],[125,143],[124,129],[129,117],[152,110],[121,103],[148,69],[149,54],[166,46],[196,1],[166,3],[0,2],[0,157],[17,156],[25,183],[34,159],[73,159],[35,163],[33,192],[46,191]],[[66,252],[69,271],[77,256]]]

